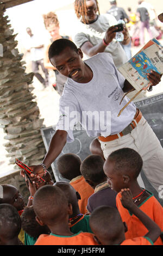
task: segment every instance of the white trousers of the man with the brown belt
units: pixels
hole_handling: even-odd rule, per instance
[[[136,150],[142,157],[142,169],[147,179],[156,191],[160,191],[160,186],[163,185],[163,149],[144,117],[128,135],[110,142],[99,142],[105,159],[117,149],[131,148]],[[138,182],[141,187],[145,187],[140,175]]]

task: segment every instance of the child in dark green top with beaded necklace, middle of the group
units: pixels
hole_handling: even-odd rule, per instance
[[[66,181],[58,181],[54,186],[59,187],[68,198],[68,203],[72,205],[72,215],[69,216],[69,225],[72,233],[76,234],[79,231],[92,233],[89,224],[90,215],[80,213],[78,200],[80,194]]]

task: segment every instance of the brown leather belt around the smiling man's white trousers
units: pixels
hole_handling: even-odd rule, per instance
[[[142,118],[142,113],[139,109],[137,109],[136,111],[136,114],[135,114],[135,117],[134,119],[136,120],[137,123],[139,123],[140,119]],[[127,135],[128,133],[130,133],[132,130],[134,130],[136,127],[136,123],[135,121],[131,121],[131,123],[126,127],[124,128],[123,131],[121,131],[119,133],[119,135],[122,137],[124,135]],[[103,137],[103,136],[98,136],[98,139],[99,141],[102,141],[102,142],[109,142],[109,141],[114,141],[114,139],[118,139],[118,135],[117,134],[114,134],[114,135],[110,135],[108,137]]]

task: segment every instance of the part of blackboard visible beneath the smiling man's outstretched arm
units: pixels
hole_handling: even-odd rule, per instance
[[[43,142],[45,144],[46,151],[48,150],[49,144],[51,142],[51,139],[54,133],[55,133],[55,126],[41,128],[41,135],[43,138]],[[93,138],[90,138],[89,136],[87,136],[86,131],[82,130],[82,127],[80,126],[80,124],[74,127],[73,136],[74,136],[74,141],[72,143],[66,143],[65,147],[61,151],[61,154],[51,164],[51,167],[54,173],[54,178],[56,181],[66,180],[62,178],[62,176],[60,175],[57,169],[57,160],[61,155],[66,153],[77,154],[80,157],[80,159],[83,161],[87,156],[91,154],[89,147]]]

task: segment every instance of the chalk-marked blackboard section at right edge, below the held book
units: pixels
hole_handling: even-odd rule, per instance
[[[163,147],[163,94],[134,101]]]

